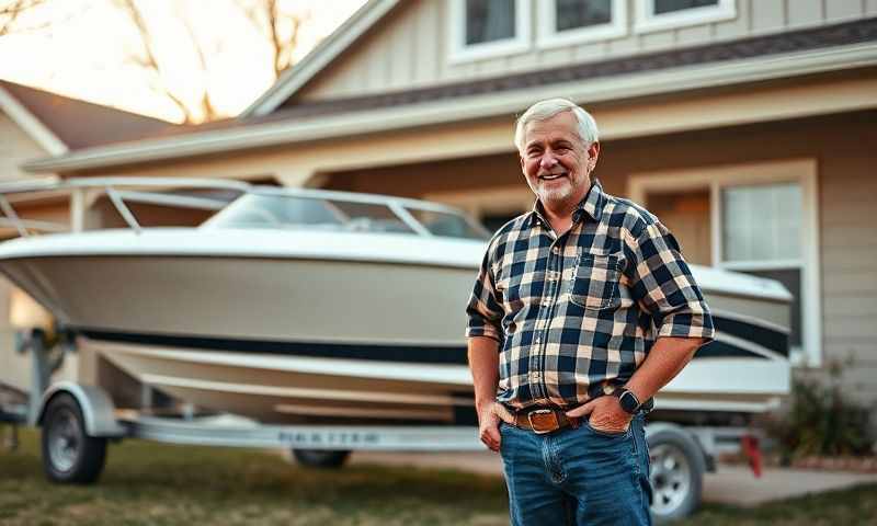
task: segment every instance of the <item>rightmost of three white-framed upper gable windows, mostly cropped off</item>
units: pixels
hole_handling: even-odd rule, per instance
[[[670,30],[730,20],[737,16],[736,0],[639,0],[636,31]]]

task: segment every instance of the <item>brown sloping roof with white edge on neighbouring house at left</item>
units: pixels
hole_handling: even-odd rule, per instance
[[[47,149],[56,155],[155,137],[183,127],[5,80],[0,80],[0,108],[37,135],[44,147],[50,145]]]

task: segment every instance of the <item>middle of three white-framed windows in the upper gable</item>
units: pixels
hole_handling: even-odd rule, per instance
[[[539,46],[554,47],[627,34],[624,0],[543,0]]]

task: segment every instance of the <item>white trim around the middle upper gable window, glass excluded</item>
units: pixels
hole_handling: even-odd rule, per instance
[[[557,0],[539,0],[537,45],[543,48],[584,44],[627,35],[627,1],[612,0],[612,21],[606,24],[557,32]]]

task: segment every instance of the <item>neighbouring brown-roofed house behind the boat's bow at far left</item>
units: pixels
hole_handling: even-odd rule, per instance
[[[61,156],[113,140],[136,140],[173,127],[164,121],[0,80],[0,183],[57,178],[52,172],[23,171],[21,164],[29,159]],[[23,219],[35,221],[34,225],[38,226],[39,221],[70,224],[69,202],[62,196],[10,201],[15,211]],[[3,216],[0,239],[14,236],[15,229]],[[26,295],[0,278],[0,387],[16,391],[30,389],[31,359],[26,353],[14,351],[18,327],[13,325],[12,318],[21,317],[22,310],[32,313],[36,309]],[[77,369],[77,356],[70,356],[56,378],[73,378]]]

